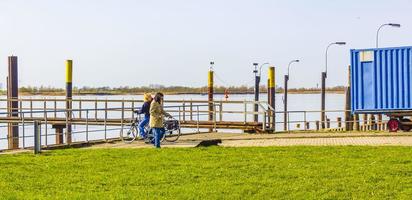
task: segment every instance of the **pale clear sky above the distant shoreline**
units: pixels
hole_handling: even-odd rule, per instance
[[[64,87],[64,60],[75,86],[204,86],[209,61],[218,85],[253,85],[252,63],[292,59],[291,87],[316,87],[329,51],[329,86],[347,82],[349,49],[412,45],[410,0],[1,0],[0,82],[7,56],[19,57],[20,85]],[[263,79],[266,79],[265,68]],[[265,81],[264,81],[265,82]]]

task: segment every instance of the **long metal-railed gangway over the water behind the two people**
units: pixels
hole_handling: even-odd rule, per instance
[[[18,137],[13,137],[7,134],[5,137],[0,135],[0,149],[7,147],[1,146],[1,141],[17,140],[20,148],[31,147],[32,137],[34,134],[31,129],[35,122],[39,125],[40,137],[43,147],[54,145],[52,137],[56,137],[57,133],[50,133],[53,125],[60,125],[65,127],[64,139],[67,143],[67,135],[83,135],[83,138],[75,140],[74,142],[90,142],[96,139],[91,137],[92,133],[99,134],[98,140],[107,141],[110,139],[122,139],[124,129],[136,117],[132,110],[138,108],[136,105],[142,103],[139,100],[109,100],[109,99],[0,99],[0,110],[7,111],[4,103],[10,105],[10,102],[18,102],[19,107],[12,109],[12,112],[0,112],[0,124],[8,124],[3,126],[18,127]],[[3,103],[3,105],[1,105]],[[66,108],[66,104],[71,104],[71,109]],[[201,129],[206,129],[205,126],[213,128],[214,131],[219,128],[219,124],[227,123],[228,129],[237,128],[242,129],[239,124],[256,126],[253,122],[253,115],[259,114],[265,120],[266,116],[270,115],[270,110],[265,109],[260,102],[253,101],[214,101],[213,110],[209,110],[208,101],[198,100],[172,100],[165,101],[164,109],[171,113],[184,125],[187,123],[187,129],[194,129],[193,132],[200,132]],[[259,112],[254,112],[253,105],[258,103],[261,106]],[[242,106],[239,106],[242,105]],[[10,110],[10,108],[9,108]],[[212,123],[207,125],[204,122],[210,122],[208,115],[212,113]],[[12,116],[17,114],[17,116]],[[70,115],[70,117],[68,116]],[[232,126],[230,126],[232,123]],[[251,125],[252,124],[252,125]],[[190,126],[189,126],[190,125]],[[71,133],[68,133],[68,127],[75,128]],[[261,123],[262,130],[267,130],[270,124],[267,122]],[[1,126],[0,126],[1,128]],[[219,128],[220,129],[220,128]],[[57,129],[56,129],[57,130]],[[109,132],[119,131],[118,135]],[[4,133],[5,131],[3,131]],[[95,135],[95,134],[94,134]],[[27,141],[30,142],[27,142]],[[30,144],[28,144],[30,143]]]

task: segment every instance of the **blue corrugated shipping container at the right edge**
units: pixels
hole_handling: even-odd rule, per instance
[[[353,113],[412,111],[412,47],[351,50]]]

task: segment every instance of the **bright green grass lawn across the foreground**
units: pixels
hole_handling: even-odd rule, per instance
[[[0,155],[0,199],[410,199],[412,148],[68,149]]]

